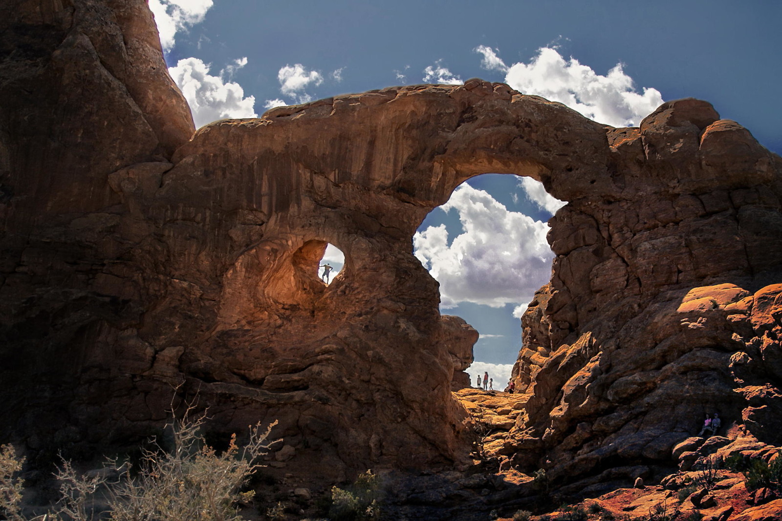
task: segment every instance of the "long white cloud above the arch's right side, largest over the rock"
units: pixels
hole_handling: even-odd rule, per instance
[[[550,47],[538,49],[529,63],[518,62],[510,67],[486,45],[479,45],[475,51],[483,55],[484,69],[506,73],[505,83],[517,91],[564,103],[612,127],[636,126],[663,102],[655,88],[643,87],[639,92],[633,78],[622,70],[622,63],[602,76],[575,58],[563,58]]]

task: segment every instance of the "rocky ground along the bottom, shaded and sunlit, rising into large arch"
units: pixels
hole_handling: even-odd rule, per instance
[[[431,471],[375,469],[372,484],[357,498],[377,498],[382,517],[335,516],[335,485],[296,463],[295,450],[275,444],[250,486],[256,491],[241,509],[243,519],[393,519],[457,521],[771,521],[782,519],[780,448],[731,428],[724,436],[688,437],[670,455],[669,473],[659,478],[639,466],[630,483],[614,469],[598,469],[587,487],[558,483],[545,469],[522,473],[513,464],[518,448],[513,427],[529,396],[465,388],[454,398],[468,411],[475,433],[472,462]],[[764,472],[750,472],[752,462]],[[762,463],[762,465],[761,465]],[[774,464],[776,463],[776,466]],[[743,465],[743,466],[742,466]],[[81,471],[87,471],[84,467]],[[742,472],[743,470],[743,472]],[[602,472],[600,472],[602,471]],[[103,472],[99,469],[89,471]],[[336,484],[355,491],[350,480]],[[28,513],[55,501],[58,485],[39,480],[25,494]],[[604,493],[590,494],[601,490]],[[106,505],[104,505],[106,506]],[[360,509],[354,509],[360,510]],[[356,513],[356,512],[353,512]]]

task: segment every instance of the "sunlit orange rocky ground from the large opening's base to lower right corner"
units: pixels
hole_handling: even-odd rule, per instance
[[[526,476],[511,467],[515,441],[511,428],[529,398],[524,394],[463,389],[454,393],[479,425],[480,453],[486,460],[499,462],[498,476],[508,483],[522,485],[518,492],[529,495],[529,508],[519,509],[496,519],[528,519],[544,521],[578,521],[579,519],[687,519],[693,521],[772,521],[782,519],[782,498],[769,487],[748,489],[746,477],[735,469],[726,469],[731,457],[744,460],[774,461],[780,450],[742,436],[738,430],[726,436],[690,437],[673,449],[672,458],[679,469],[665,476],[658,484],[644,485],[638,479],[633,487],[620,487],[607,494],[568,503],[558,499],[558,491],[545,490],[550,484],[535,476]],[[476,462],[480,464],[479,462]],[[777,476],[778,479],[778,476]],[[523,485],[528,485],[523,487]],[[533,493],[533,494],[530,494]],[[534,493],[540,493],[535,496]],[[547,497],[540,497],[541,495]],[[558,501],[565,506],[547,508]],[[498,505],[500,506],[500,505]],[[517,513],[518,512],[518,513]],[[533,515],[533,512],[535,515]]]

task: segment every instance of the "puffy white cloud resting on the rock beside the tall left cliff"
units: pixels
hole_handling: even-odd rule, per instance
[[[246,59],[242,60],[246,63]],[[168,69],[190,105],[196,128],[224,118],[257,117],[254,96],[245,98],[241,85],[224,82],[209,71],[210,65],[198,58],[181,59],[177,66]]]

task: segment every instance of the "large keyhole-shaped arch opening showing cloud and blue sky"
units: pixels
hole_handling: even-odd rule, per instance
[[[508,384],[521,316],[551,278],[547,221],[562,205],[531,177],[485,173],[457,187],[413,237],[414,255],[440,284],[440,312],[479,331],[465,371],[473,387],[484,373],[495,391]]]

